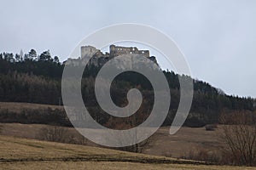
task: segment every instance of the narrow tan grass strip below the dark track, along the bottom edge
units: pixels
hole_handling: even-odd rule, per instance
[[[178,164],[143,164],[121,161],[29,161],[29,162],[0,162],[0,166],[6,169],[88,169],[88,170],[131,170],[131,169],[150,169],[150,170],[253,170],[253,167],[218,167],[218,166],[196,166]]]

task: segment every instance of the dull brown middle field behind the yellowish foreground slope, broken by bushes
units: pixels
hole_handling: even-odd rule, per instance
[[[41,139],[41,129],[49,127],[42,124],[20,124],[20,123],[0,123],[2,134],[27,139]],[[67,130],[68,136],[80,138],[81,135],[73,127],[63,127]],[[152,137],[148,139],[148,144],[144,147],[143,153],[154,156],[186,156],[195,150],[219,150],[223,142],[218,137],[218,131],[206,131],[204,127],[190,128],[182,127],[175,135],[169,134],[170,127],[160,127]],[[98,146],[86,142],[90,146]]]

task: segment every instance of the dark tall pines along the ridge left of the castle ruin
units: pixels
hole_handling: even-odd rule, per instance
[[[0,73],[8,74],[9,72],[28,73],[36,76],[49,78],[61,78],[63,66],[59,58],[51,57],[48,51],[37,55],[34,49],[28,54],[0,54]]]

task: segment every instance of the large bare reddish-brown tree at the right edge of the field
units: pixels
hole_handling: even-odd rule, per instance
[[[222,115],[220,121],[224,124],[222,137],[230,161],[237,165],[256,165],[256,116],[236,111]]]

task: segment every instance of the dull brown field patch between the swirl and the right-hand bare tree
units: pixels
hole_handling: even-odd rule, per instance
[[[170,135],[170,127],[160,127],[143,153],[181,157],[191,150],[219,150],[224,145],[218,136],[220,129],[221,127],[215,131],[207,131],[205,127],[181,127],[176,134]]]

